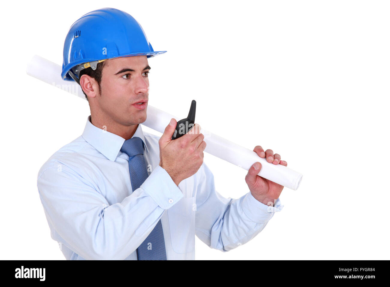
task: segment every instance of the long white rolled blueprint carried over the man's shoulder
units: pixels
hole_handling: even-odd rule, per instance
[[[61,78],[61,66],[48,61],[38,55],[34,55],[27,64],[27,74],[35,77],[52,86],[58,87],[64,91],[72,93],[80,98],[85,99],[81,87],[74,81],[65,81]],[[180,118],[161,111],[151,105],[147,106],[147,118],[142,125],[152,128],[160,133],[164,133],[165,127],[170,122],[171,118],[178,121]],[[204,128],[200,132],[204,135],[204,141],[207,146],[204,150],[207,153],[215,155],[220,159],[226,160],[245,170],[249,170],[255,162],[260,162],[262,168],[258,173],[268,180],[283,185],[289,189],[297,190],[302,180],[302,174],[293,171],[287,166],[281,164],[272,164],[267,162],[265,158],[261,158],[252,150],[239,146],[227,139],[224,139],[216,134],[213,134]]]

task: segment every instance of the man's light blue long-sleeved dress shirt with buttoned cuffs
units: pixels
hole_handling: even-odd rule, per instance
[[[67,260],[137,260],[137,247],[159,219],[167,260],[195,259],[195,235],[229,251],[255,237],[283,206],[257,201],[250,192],[224,198],[203,162],[177,186],[161,168],[159,136],[142,132],[149,177],[132,192],[125,139],[87,119],[83,134],[55,152],[38,173],[38,192],[51,238]],[[239,179],[238,179],[239,180]],[[243,180],[243,179],[242,179]]]

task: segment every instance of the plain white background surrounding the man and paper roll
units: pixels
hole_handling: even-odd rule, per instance
[[[69,27],[114,7],[154,50],[149,103],[303,174],[252,241],[196,259],[389,259],[390,7],[387,1],[7,2],[1,25],[1,259],[59,259],[36,186],[42,164],[82,134],[87,101],[25,72],[62,64]],[[168,123],[167,123],[168,124]],[[144,128],[147,132],[161,135]],[[205,154],[217,191],[248,192],[246,171]]]

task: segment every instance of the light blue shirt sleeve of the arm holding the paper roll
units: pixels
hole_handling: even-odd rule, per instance
[[[203,163],[197,176],[195,234],[209,247],[223,252],[253,239],[275,212],[282,210],[256,200],[250,192],[238,199],[224,198],[215,190],[214,176]]]

